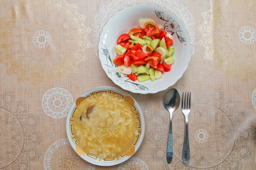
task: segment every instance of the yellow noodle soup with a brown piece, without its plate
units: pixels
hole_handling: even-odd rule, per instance
[[[111,159],[124,154],[137,139],[132,106],[112,94],[85,98],[74,116],[75,135],[85,153]]]

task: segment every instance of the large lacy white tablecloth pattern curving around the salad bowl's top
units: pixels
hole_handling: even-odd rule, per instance
[[[183,22],[183,25],[187,29],[188,36],[191,41],[190,53],[191,55],[193,55],[193,52],[195,51],[194,45],[196,45],[195,32],[194,32],[195,22],[193,21],[193,16],[191,12],[188,11],[188,7],[183,6],[183,4],[179,2],[179,0],[173,0],[173,1],[138,0],[136,1],[136,3],[145,3],[145,2],[150,4],[158,4],[159,6],[164,6],[169,11],[175,13],[176,16],[181,19],[181,21]],[[100,7],[99,12],[95,16],[95,23],[92,25],[94,30],[94,33],[93,33],[94,43],[92,44],[92,46],[97,47],[100,33],[102,32],[102,28],[105,26],[105,23],[107,22],[107,20],[111,16],[113,16],[115,12],[121,10],[125,6],[129,6],[132,4],[134,4],[134,0],[112,0],[112,1],[107,1],[107,4],[103,4]],[[96,55],[98,55],[98,48],[96,48]]]

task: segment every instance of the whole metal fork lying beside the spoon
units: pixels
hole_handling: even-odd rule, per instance
[[[191,111],[191,92],[182,93],[181,99],[181,111],[185,116],[186,120],[186,130],[185,130],[185,137],[184,137],[184,144],[183,144],[183,151],[182,151],[182,161],[183,164],[188,166],[190,161],[190,149],[189,149],[189,141],[188,141],[188,115]]]

